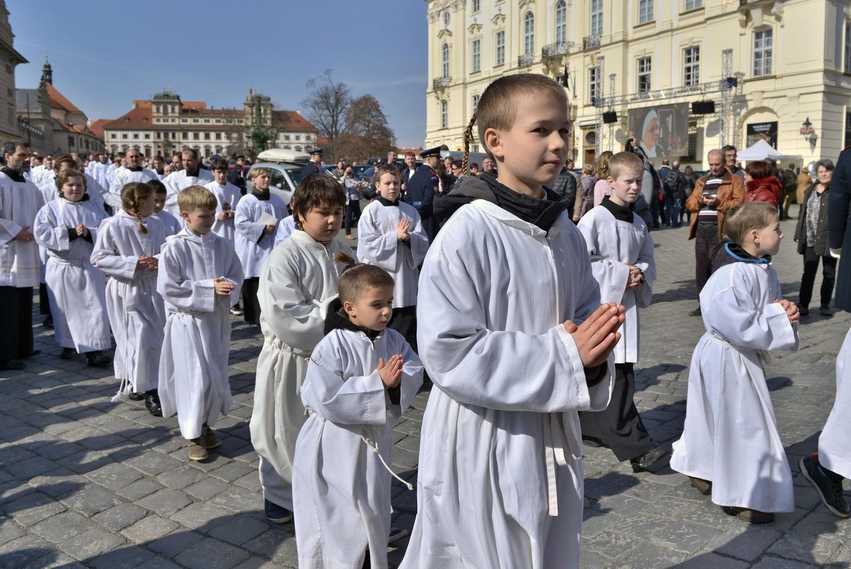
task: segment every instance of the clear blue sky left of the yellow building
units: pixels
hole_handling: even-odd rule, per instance
[[[6,0],[34,88],[44,53],[54,87],[89,118],[117,118],[171,87],[185,101],[242,106],[248,86],[300,109],[310,78],[334,70],[374,95],[400,147],[426,135],[428,31],[422,0]]]

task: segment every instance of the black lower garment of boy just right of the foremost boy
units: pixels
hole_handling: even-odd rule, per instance
[[[614,365],[612,400],[603,411],[580,411],[582,438],[612,449],[618,460],[640,457],[656,446],[638,415],[633,364]]]

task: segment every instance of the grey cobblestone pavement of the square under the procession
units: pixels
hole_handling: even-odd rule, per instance
[[[793,211],[794,212],[794,211]],[[793,221],[784,221],[790,232]],[[695,307],[694,249],[687,229],[654,233],[659,279],[643,312],[638,407],[656,440],[683,426],[688,362],[703,331]],[[352,244],[351,241],[348,242]],[[802,262],[787,237],[774,266],[797,300]],[[816,283],[816,290],[820,280]],[[37,318],[40,322],[41,318]],[[801,349],[776,353],[768,384],[780,434],[795,467],[791,514],[748,526],[722,514],[666,461],[632,474],[611,452],[585,457],[583,567],[845,567],[851,520],[826,512],[797,474],[814,451],[834,396],[834,364],[851,316],[809,316]],[[206,463],[186,457],[174,418],[139,403],[111,403],[110,371],[59,359],[52,332],[37,327],[26,371],[0,373],[0,566],[297,566],[293,526],[262,512],[257,455],[248,435],[260,333],[234,319],[229,417],[216,425],[220,449]],[[393,466],[414,481],[427,393],[394,427]],[[394,481],[395,525],[410,528],[416,495]],[[391,552],[402,559],[405,542]]]

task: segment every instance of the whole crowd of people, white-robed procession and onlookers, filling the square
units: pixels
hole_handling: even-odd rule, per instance
[[[465,146],[477,128],[487,148],[481,168],[467,152],[458,164],[431,148],[420,166],[408,153],[400,171],[391,152],[364,185],[345,161],[320,173],[313,149],[289,204],[270,193],[269,170],[251,170],[246,193],[242,167],[216,157],[205,168],[191,149],[150,169],[135,150],[31,164],[26,143],[10,141],[0,369],[23,369],[35,353],[32,288],[43,284],[60,357],[113,365],[113,400],[176,415],[188,458],[203,461],[220,445],[231,313],[242,312],[263,336],[249,425],[266,519],[294,520],[300,566],[386,566],[387,543],[407,533],[391,528],[388,414],[430,381],[402,566],[576,567],[582,445],[611,449],[635,472],[669,453],[637,411],[634,367],[656,277],[651,230],[685,218],[706,332],[671,468],[742,520],[791,511],[762,354],[797,349],[819,262],[820,312],[831,314],[851,235],[851,151],[804,181],[711,150],[698,177],[676,160],[655,170],[630,141],[577,174],[567,109],[549,78],[500,78],[466,129]],[[797,304],[770,264],[794,193]],[[336,239],[344,227],[357,227],[357,253]],[[851,310],[849,289],[837,307]],[[848,338],[831,419],[799,464],[842,517]]]

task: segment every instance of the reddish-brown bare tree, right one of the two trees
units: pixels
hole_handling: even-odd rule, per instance
[[[396,147],[396,136],[387,124],[380,102],[372,95],[351,101],[346,111],[346,126],[340,135],[341,156],[362,160],[386,156]]]

